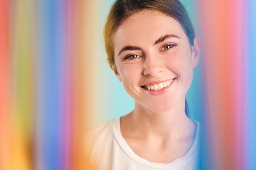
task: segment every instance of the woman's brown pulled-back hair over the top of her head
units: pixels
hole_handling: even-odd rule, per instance
[[[115,64],[113,36],[118,27],[131,15],[143,9],[157,10],[177,20],[183,27],[191,46],[195,31],[189,15],[179,0],[116,0],[108,14],[104,28],[105,48],[110,65]]]

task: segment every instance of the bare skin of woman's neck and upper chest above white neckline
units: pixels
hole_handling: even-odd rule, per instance
[[[144,114],[142,110],[132,111],[120,121],[121,133],[132,151],[150,162],[168,163],[182,157],[193,144],[195,123],[185,113],[182,118]]]

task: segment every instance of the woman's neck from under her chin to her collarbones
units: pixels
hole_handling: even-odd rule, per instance
[[[157,113],[149,108],[135,103],[135,110],[122,119],[123,127],[137,132],[144,137],[157,136],[158,138],[182,137],[191,132],[191,127],[195,126],[184,111],[185,101],[180,102],[166,112]]]

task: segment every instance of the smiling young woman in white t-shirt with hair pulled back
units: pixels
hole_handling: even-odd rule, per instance
[[[200,125],[185,95],[200,41],[178,0],[117,0],[104,30],[108,62],[135,108],[93,128],[88,160],[100,170],[197,169]]]

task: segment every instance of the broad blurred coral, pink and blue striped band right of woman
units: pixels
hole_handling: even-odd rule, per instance
[[[253,1],[199,0],[207,167],[256,168],[254,114],[256,15]],[[210,169],[204,168],[204,169]]]

